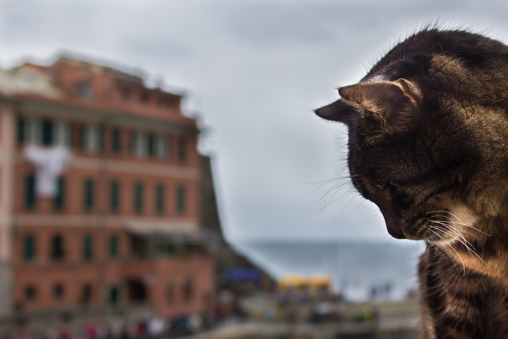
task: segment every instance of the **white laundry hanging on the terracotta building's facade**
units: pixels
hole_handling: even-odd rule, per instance
[[[35,189],[39,197],[53,198],[58,193],[58,177],[69,165],[71,152],[63,146],[27,145],[25,158],[36,166]]]

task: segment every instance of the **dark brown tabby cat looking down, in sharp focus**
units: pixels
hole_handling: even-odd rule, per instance
[[[508,46],[423,28],[338,93],[355,188],[427,244],[422,336],[508,338]]]

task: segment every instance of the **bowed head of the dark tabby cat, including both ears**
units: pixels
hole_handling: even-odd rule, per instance
[[[507,129],[494,110],[429,83],[370,77],[315,113],[347,125],[351,179],[389,233],[439,243],[503,208]]]

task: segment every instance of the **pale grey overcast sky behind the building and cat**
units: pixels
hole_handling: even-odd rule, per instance
[[[0,0],[0,67],[66,52],[184,91],[231,240],[388,240],[377,207],[344,179],[345,128],[312,110],[425,22],[506,42],[507,4]]]

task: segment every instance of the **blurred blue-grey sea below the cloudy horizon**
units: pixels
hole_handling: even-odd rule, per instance
[[[234,248],[274,279],[328,275],[345,300],[398,301],[417,289],[419,241],[236,242]]]

